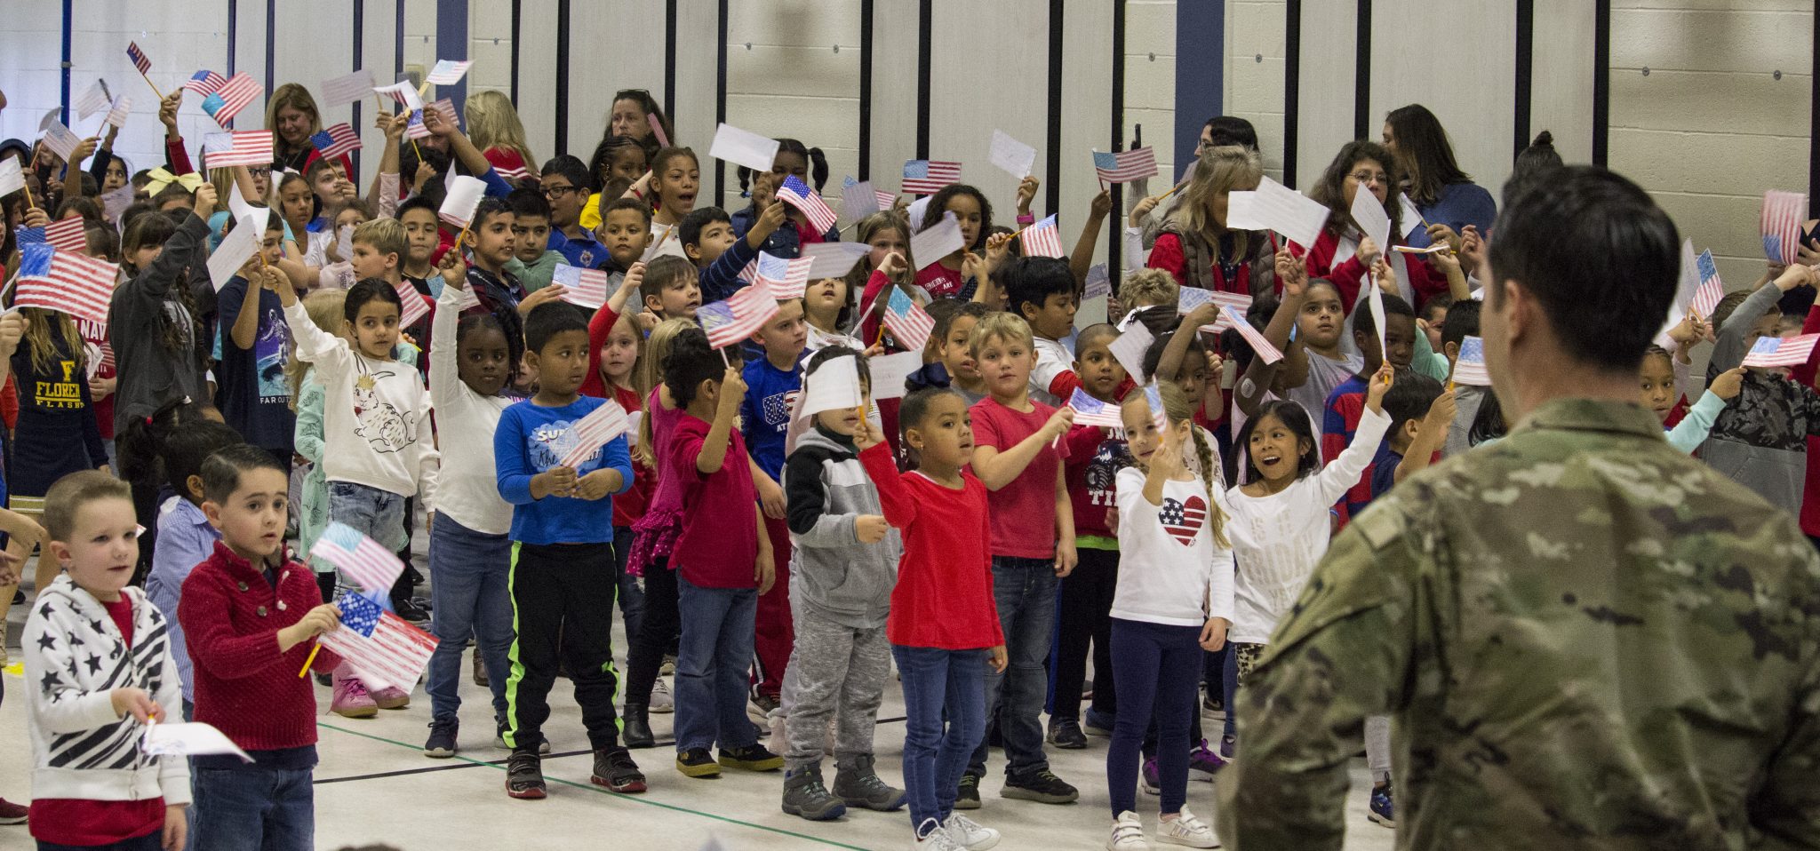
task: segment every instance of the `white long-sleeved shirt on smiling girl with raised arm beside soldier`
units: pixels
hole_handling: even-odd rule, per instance
[[[1227,538],[1238,560],[1230,638],[1265,644],[1278,620],[1301,596],[1332,536],[1332,507],[1378,455],[1390,418],[1370,407],[1338,458],[1269,496],[1247,496],[1243,486],[1219,500],[1227,511]],[[1123,506],[1121,506],[1123,509]],[[1123,542],[1121,542],[1123,547]],[[1119,580],[1123,582],[1123,567]]]

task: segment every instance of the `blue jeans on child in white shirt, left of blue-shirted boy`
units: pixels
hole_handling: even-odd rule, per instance
[[[486,682],[493,691],[493,722],[506,716],[506,682],[511,678],[511,538],[482,535],[437,515],[430,526],[430,631],[437,651],[430,656],[430,715],[446,716],[460,709],[460,655],[468,638],[486,664]]]

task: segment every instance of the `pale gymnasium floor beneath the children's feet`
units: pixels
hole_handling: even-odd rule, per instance
[[[417,542],[419,569],[424,569],[424,540]],[[428,571],[424,571],[428,575]],[[27,566],[25,576],[31,576]],[[428,587],[420,589],[428,595]],[[18,669],[18,635],[25,606],[15,606],[5,626],[5,644],[15,666],[0,675],[5,702],[0,704],[0,798],[31,798],[31,744],[25,736],[24,676]],[[621,626],[615,618],[615,631]],[[615,656],[624,664],[624,640],[615,636]],[[783,775],[728,771],[719,780],[692,780],[673,767],[675,751],[664,747],[672,715],[653,715],[659,747],[633,751],[650,778],[644,795],[613,795],[588,782],[592,760],[568,680],[557,680],[551,693],[551,718],[546,724],[551,755],[544,758],[550,798],[511,800],[504,795],[506,751],[491,746],[493,726],[486,689],[473,684],[462,666],[462,751],[455,758],[431,760],[420,751],[430,724],[430,698],[422,687],[411,706],[382,711],[377,718],[340,718],[328,713],[329,689],[317,687],[320,764],[317,766],[317,847],[388,844],[400,851],[431,849],[539,849],[564,851],[601,847],[693,851],[719,842],[724,851],[741,849],[903,849],[910,844],[905,811],[848,813],[837,822],[806,822],[779,811]],[[1208,720],[1212,727],[1212,720]],[[983,784],[985,806],[970,813],[977,822],[1003,831],[1001,849],[1094,849],[1105,847],[1110,829],[1105,793],[1107,740],[1090,736],[1085,751],[1048,749],[1054,771],[1081,787],[1081,800],[1045,806],[997,796],[1003,755],[994,751]],[[901,786],[903,695],[895,682],[886,687],[879,711],[879,776]],[[832,758],[824,764],[834,778]],[[1347,849],[1389,851],[1392,831],[1365,816],[1367,771],[1363,760],[1352,764],[1352,793],[1347,796]],[[1147,829],[1156,822],[1156,798],[1139,791],[1139,811]],[[1188,807],[1212,820],[1212,784],[1188,784]],[[31,847],[25,826],[0,827],[0,849]],[[1167,846],[1158,846],[1167,847]]]

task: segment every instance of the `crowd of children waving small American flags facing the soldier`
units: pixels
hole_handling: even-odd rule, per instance
[[[191,171],[180,100],[160,111],[171,175]],[[1188,782],[1236,758],[1234,689],[1334,529],[1507,427],[1489,382],[1461,369],[1491,213],[1412,142],[1436,133],[1405,133],[1432,124],[1421,107],[1392,113],[1401,144],[1387,124],[1387,145],[1340,151],[1310,191],[1330,216],[1307,247],[1227,227],[1228,195],[1263,169],[1249,125],[1208,122],[1176,200],[1134,193],[1110,322],[1077,316],[1108,195],[1074,256],[1025,256],[992,202],[952,184],[857,216],[852,269],[817,273],[719,347],[697,324],[704,302],[764,285],[746,273],[761,253],[843,238],[779,200],[790,178],[823,189],[819,149],[777,140],[772,171],[741,171],[752,205],[730,215],[697,205],[701,158],[659,142],[668,120],[648,95],[619,93],[592,162],[533,169],[511,104],[479,93],[468,133],[431,109],[422,144],[404,138],[408,116],[380,115],[362,198],[351,164],[315,151],[304,87],[280,87],[269,113],[269,169],[213,167],[193,185],[127,175],[111,135],[67,164],[0,145],[27,182],[0,198],[5,271],[66,218],[122,271],[106,324],[0,315],[0,580],[38,551],[24,691],[40,847],[311,847],[318,684],[298,671],[322,675],[349,718],[404,707],[415,686],[317,653],[346,606],[428,620],[440,642],[431,758],[460,749],[473,642],[513,798],[548,795],[550,691],[568,678],[592,778],[615,793],[661,782],[633,749],[673,709],[682,776],[783,769],[784,813],[906,807],[914,847],[986,849],[999,833],[965,811],[983,806],[992,742],[1003,798],[1067,804],[1079,789],[1045,746],[1108,736],[1107,847],[1148,847],[1139,786],[1158,796],[1158,840],[1218,847]],[[488,187],[464,227],[439,218],[457,173]],[[87,200],[127,185],[142,196],[124,209]],[[1360,189],[1398,245],[1352,218]],[[1019,227],[1036,195],[1025,178]],[[277,215],[229,213],[242,205]],[[961,247],[912,256],[945,216]],[[260,220],[255,253],[213,280],[211,251]],[[573,267],[604,273],[602,302]],[[1820,502],[1804,502],[1820,480],[1815,367],[1742,364],[1760,336],[1820,329],[1820,309],[1778,322],[1815,282],[1804,264],[1773,267],[1667,327],[1640,365],[1667,440],[1789,511]],[[1228,316],[1192,289],[1238,295],[1252,333],[1212,333]],[[886,313],[926,313],[926,342]],[[1691,353],[1709,338],[1702,393]],[[895,353],[921,353],[921,369],[886,385],[872,365]],[[854,378],[857,396],[804,409]],[[579,424],[602,405],[630,427],[575,462]],[[311,556],[342,524],[410,564],[419,522],[428,600],[415,569],[362,589]],[[874,740],[894,667],[901,786],[879,776]],[[178,713],[253,762],[135,747]],[[1223,729],[1205,735],[1203,716]],[[1367,722],[1365,749],[1370,816],[1394,826],[1389,720]],[[0,802],[0,820],[25,818]]]

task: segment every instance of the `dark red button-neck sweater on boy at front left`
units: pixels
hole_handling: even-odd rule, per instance
[[[289,556],[289,553],[286,553]],[[286,558],[278,584],[226,544],[184,580],[177,620],[195,664],[197,720],[248,751],[317,744],[315,682],[297,676],[315,642],[278,653],[278,629],[322,606],[308,566]],[[328,673],[340,656],[324,649],[311,669]]]

